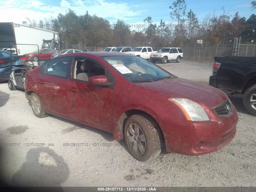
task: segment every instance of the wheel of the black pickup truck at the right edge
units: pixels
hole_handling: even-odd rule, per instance
[[[256,116],[256,85],[249,87],[244,93],[243,103],[246,110]]]

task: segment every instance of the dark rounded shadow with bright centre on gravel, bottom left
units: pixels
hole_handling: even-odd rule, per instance
[[[26,162],[12,176],[12,186],[60,187],[70,175],[64,158],[48,147],[32,148]],[[62,191],[58,188],[58,191]]]

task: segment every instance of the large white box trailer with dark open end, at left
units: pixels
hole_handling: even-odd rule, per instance
[[[58,32],[13,22],[0,22],[0,48],[14,47],[18,55],[34,52],[41,48],[43,40],[53,38],[59,39]]]

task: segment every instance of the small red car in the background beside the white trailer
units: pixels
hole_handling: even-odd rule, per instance
[[[27,60],[38,61],[38,60],[49,60],[51,55],[54,53],[58,53],[55,49],[40,49],[39,50],[39,58],[38,58],[38,50],[35,50],[32,53],[24,54]]]

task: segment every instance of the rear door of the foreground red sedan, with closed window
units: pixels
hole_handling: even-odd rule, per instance
[[[71,57],[61,57],[42,64],[36,78],[38,96],[47,112],[67,116],[66,78],[70,76]]]

